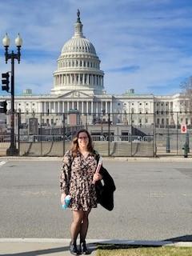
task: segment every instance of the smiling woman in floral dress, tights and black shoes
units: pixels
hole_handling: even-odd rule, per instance
[[[96,167],[96,152],[90,134],[87,130],[79,130],[73,139],[71,150],[64,155],[60,175],[61,203],[65,204],[67,194],[71,196],[70,209],[73,213],[73,222],[70,226],[70,253],[74,255],[90,254],[86,248],[88,216],[90,210],[97,207],[94,182],[102,179],[101,174],[95,174]],[[80,234],[80,251],[76,242],[78,234]]]

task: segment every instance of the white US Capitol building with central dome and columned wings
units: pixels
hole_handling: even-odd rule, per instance
[[[157,126],[174,125],[176,122],[191,124],[186,115],[176,121],[174,112],[185,108],[182,94],[171,96],[154,96],[153,94],[135,94],[134,89],[127,89],[124,94],[107,94],[104,87],[104,72],[100,70],[100,59],[93,44],[86,39],[82,31],[80,13],[74,23],[74,36],[62,47],[58,57],[57,70],[54,71],[54,85],[49,95],[33,95],[28,89],[20,96],[15,96],[14,109],[22,114],[22,123],[29,122],[31,114],[35,114],[38,122],[47,126],[61,126],[62,113],[79,114],[80,124],[85,122],[94,126],[99,120],[111,121],[115,124],[137,125],[156,124]],[[10,97],[0,96],[0,101],[7,101],[10,110]],[[155,113],[155,115],[154,115]],[[155,116],[155,120],[154,120]],[[69,124],[70,118],[66,122]],[[96,129],[96,126],[94,126]],[[93,128],[93,129],[94,129]]]

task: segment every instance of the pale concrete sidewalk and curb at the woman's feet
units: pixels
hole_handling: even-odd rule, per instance
[[[134,241],[87,239],[92,256],[96,255],[98,244],[116,244],[129,246],[192,246],[192,242],[171,241]],[[0,238],[0,255],[2,256],[64,256],[70,255],[70,239],[52,238]]]

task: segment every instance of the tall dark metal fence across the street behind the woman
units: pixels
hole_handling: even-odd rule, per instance
[[[16,113],[15,143],[19,155],[62,156],[77,130],[89,130],[103,156],[182,155],[192,145],[192,113]],[[182,126],[186,127],[183,133]],[[10,146],[10,115],[1,118],[0,155]]]

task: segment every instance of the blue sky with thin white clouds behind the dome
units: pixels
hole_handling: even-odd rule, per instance
[[[0,36],[23,39],[15,93],[50,94],[62,46],[74,34],[77,9],[94,44],[109,94],[174,94],[192,74],[191,0],[0,1]],[[0,47],[1,73],[10,70]],[[0,92],[2,94],[2,91]],[[3,93],[5,94],[5,93]]]

